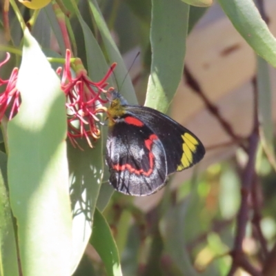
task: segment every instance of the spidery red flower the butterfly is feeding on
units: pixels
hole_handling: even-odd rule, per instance
[[[99,139],[99,118],[97,114],[105,112],[102,106],[106,100],[101,98],[101,93],[108,85],[106,80],[110,77],[116,64],[112,64],[106,76],[99,82],[90,81],[86,70],[83,68],[81,59],[75,59],[73,63],[76,77],[72,77],[70,71],[70,50],[66,51],[66,63],[61,78],[61,89],[66,95],[68,138],[73,146],[77,145],[77,138],[86,137],[92,147],[90,138]],[[58,72],[61,69],[59,68]],[[98,107],[99,106],[99,107]]]

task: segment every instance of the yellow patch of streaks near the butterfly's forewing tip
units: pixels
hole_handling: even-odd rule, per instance
[[[180,160],[179,166],[177,166],[177,170],[184,170],[184,168],[188,168],[193,165],[193,155],[197,151],[197,145],[199,142],[195,137],[190,135],[190,133],[186,132],[184,135],[181,135],[183,139],[182,149],[183,154]]]

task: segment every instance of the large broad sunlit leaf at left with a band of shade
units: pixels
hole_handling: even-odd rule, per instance
[[[8,124],[8,179],[23,275],[70,274],[72,215],[65,96],[37,41],[24,30],[17,86],[21,107]]]

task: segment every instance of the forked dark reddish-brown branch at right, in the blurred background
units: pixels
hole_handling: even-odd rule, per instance
[[[250,275],[253,276],[261,276],[262,273],[255,268],[246,257],[242,244],[244,241],[244,237],[246,235],[246,225],[248,224],[248,213],[250,210],[250,206],[248,205],[248,198],[250,195],[253,197],[253,204],[257,200],[255,197],[254,191],[254,182],[255,182],[255,157],[257,152],[257,146],[259,143],[259,121],[257,117],[257,83],[256,79],[253,79],[253,92],[254,92],[254,117],[253,117],[253,130],[250,133],[248,139],[246,139],[246,144],[244,143],[244,138],[235,134],[232,126],[224,119],[217,106],[215,106],[209,99],[204,95],[204,92],[201,90],[199,83],[193,78],[193,76],[188,71],[187,67],[185,67],[184,74],[186,76],[186,81],[188,85],[193,88],[193,90],[201,97],[202,101],[204,101],[206,108],[217,118],[219,124],[221,124],[222,128],[228,133],[228,135],[237,143],[239,146],[244,148],[248,153],[248,161],[247,164],[242,170],[242,187],[241,187],[241,205],[239,207],[239,211],[237,214],[237,229],[235,235],[234,247],[230,255],[233,258],[233,263],[228,272],[228,276],[233,276],[237,270],[237,268],[243,268]],[[246,145],[246,146],[245,146]],[[259,205],[254,206],[255,210],[255,229],[258,235],[259,242],[262,246],[264,255],[267,255],[266,242],[262,235],[261,228],[259,227]],[[254,222],[254,221],[253,221]]]

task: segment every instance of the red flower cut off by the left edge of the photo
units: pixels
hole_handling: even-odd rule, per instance
[[[8,62],[10,59],[10,54],[7,52],[7,57],[4,61],[0,63],[0,67]],[[0,86],[6,85],[6,90],[0,95],[0,121],[3,119],[6,110],[10,107],[10,115],[8,119],[12,119],[14,115],[19,111],[20,106],[20,95],[19,90],[17,90],[17,77],[18,77],[18,68],[12,70],[12,74],[9,79],[0,78]]]

